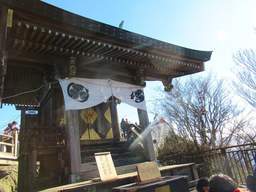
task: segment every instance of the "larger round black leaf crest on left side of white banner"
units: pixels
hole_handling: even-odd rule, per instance
[[[68,96],[78,102],[85,102],[89,98],[89,90],[80,84],[70,83],[67,92]]]

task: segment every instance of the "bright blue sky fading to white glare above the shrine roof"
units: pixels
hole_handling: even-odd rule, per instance
[[[206,62],[219,76],[229,78],[234,64],[232,53],[239,48],[256,48],[255,0],[44,0],[75,14],[123,29],[195,50],[213,51]],[[203,74],[203,72],[202,72]],[[147,82],[146,100],[151,88],[161,82]],[[14,107],[0,109],[0,132],[20,115]],[[120,118],[138,122],[137,110],[118,107]],[[131,115],[130,115],[131,114]],[[15,116],[14,118],[12,118]],[[154,114],[149,114],[152,121]],[[20,120],[18,120],[20,123]]]

